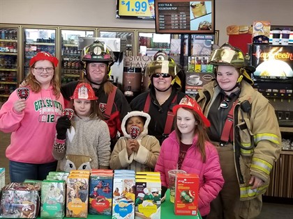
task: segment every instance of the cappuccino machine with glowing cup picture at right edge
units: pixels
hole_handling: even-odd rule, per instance
[[[293,127],[293,46],[249,44],[254,88],[275,108],[280,127]]]

